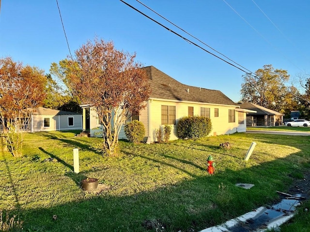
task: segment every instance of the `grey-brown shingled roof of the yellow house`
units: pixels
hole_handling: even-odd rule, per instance
[[[144,69],[152,89],[150,98],[237,105],[219,90],[184,85],[154,66],[144,67]]]

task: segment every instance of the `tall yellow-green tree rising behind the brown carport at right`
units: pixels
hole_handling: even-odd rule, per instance
[[[272,65],[264,65],[255,74],[245,74],[240,91],[241,101],[281,111],[282,104],[288,97],[285,84],[289,78],[286,70],[274,69]]]

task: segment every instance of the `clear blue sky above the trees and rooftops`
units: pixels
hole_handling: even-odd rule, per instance
[[[124,0],[206,50],[137,0]],[[255,72],[265,64],[294,78],[310,74],[309,0],[140,0],[234,62]],[[137,53],[179,82],[217,89],[237,102],[244,72],[186,42],[120,0],[58,0],[71,52],[95,36]],[[1,0],[0,57],[37,66],[67,57],[56,0]],[[224,58],[227,61],[232,61]]]

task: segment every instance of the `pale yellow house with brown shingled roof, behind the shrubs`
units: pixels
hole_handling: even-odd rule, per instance
[[[147,143],[155,142],[155,131],[166,124],[172,126],[170,139],[177,139],[178,121],[183,116],[209,117],[213,128],[210,135],[213,136],[246,131],[246,114],[252,111],[240,109],[221,91],[184,85],[153,66],[144,69],[152,93],[139,116],[132,116],[128,121],[138,119],[144,124]],[[96,128],[100,127],[97,114],[89,105],[81,107],[83,131],[95,136]],[[125,138],[122,130],[119,139]]]

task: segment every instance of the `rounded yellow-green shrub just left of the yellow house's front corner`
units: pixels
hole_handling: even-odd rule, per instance
[[[138,120],[128,122],[124,127],[124,131],[128,140],[132,143],[138,144],[144,139],[145,128],[143,123]]]

